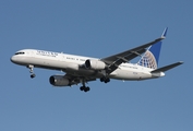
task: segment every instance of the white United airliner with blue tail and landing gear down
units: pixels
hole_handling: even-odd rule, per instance
[[[82,84],[81,91],[88,92],[87,82],[108,83],[110,79],[122,81],[141,81],[165,76],[165,72],[183,63],[179,61],[158,68],[159,52],[162,39],[166,38],[168,27],[162,35],[147,44],[105,58],[92,58],[63,52],[39,49],[22,49],[16,51],[11,61],[29,69],[31,78],[35,78],[34,68],[59,70],[65,74],[49,78],[53,86],[72,86]],[[136,57],[137,63],[130,63]]]

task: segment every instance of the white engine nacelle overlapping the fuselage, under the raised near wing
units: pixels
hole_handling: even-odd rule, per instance
[[[99,60],[86,60],[85,67],[87,69],[94,69],[94,70],[102,70],[106,68],[106,63]]]

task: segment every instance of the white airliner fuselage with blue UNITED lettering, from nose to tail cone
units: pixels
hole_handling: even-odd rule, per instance
[[[101,70],[92,70],[84,67],[87,59],[97,58],[68,55],[62,52],[44,51],[36,49],[24,49],[17,51],[11,61],[21,66],[34,66],[51,70],[60,70],[77,76],[102,76]],[[117,70],[110,73],[110,79],[117,80],[146,80],[162,76],[164,74],[152,74],[153,69],[133,63],[122,63]]]

